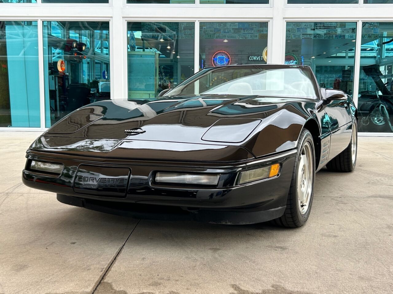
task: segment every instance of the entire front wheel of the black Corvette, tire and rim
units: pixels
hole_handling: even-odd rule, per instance
[[[289,188],[286,209],[276,224],[288,228],[304,225],[309,218],[315,181],[314,140],[309,130],[301,131],[298,141],[298,154]]]

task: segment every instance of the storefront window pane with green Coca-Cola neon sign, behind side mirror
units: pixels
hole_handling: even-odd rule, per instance
[[[353,94],[355,22],[287,22],[285,64],[309,65],[320,87]]]

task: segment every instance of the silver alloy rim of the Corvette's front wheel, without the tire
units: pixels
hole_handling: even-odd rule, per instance
[[[309,209],[312,182],[314,177],[314,168],[312,161],[312,151],[310,142],[306,142],[301,150],[300,160],[298,165],[298,204],[301,214],[305,214]]]

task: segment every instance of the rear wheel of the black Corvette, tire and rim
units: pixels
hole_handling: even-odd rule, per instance
[[[343,152],[338,154],[330,162],[327,163],[326,167],[329,171],[334,172],[351,172],[356,166],[356,157],[358,154],[358,125],[356,121],[352,127],[351,142]]]

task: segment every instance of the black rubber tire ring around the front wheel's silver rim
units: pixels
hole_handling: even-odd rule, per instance
[[[310,205],[309,208],[307,209],[307,212],[305,214],[301,214],[300,212],[300,207],[299,207],[299,201],[298,201],[298,189],[297,189],[297,183],[298,183],[298,166],[300,162],[300,156],[301,156],[301,151],[303,149],[303,146],[305,145],[306,142],[310,143],[311,146],[311,153],[312,153],[312,167],[313,167],[313,177],[312,177],[312,188],[311,188],[311,199],[310,199]],[[301,223],[301,225],[304,225],[307,219],[309,218],[310,211],[311,211],[311,206],[312,206],[312,200],[314,198],[314,184],[315,184],[315,148],[314,148],[314,140],[312,139],[311,133],[305,129],[303,132],[303,136],[299,142],[298,145],[298,154],[297,154],[297,159],[296,159],[296,165],[295,165],[295,185],[294,187],[294,195],[295,195],[295,207],[296,207],[296,214],[298,216],[298,220]]]

